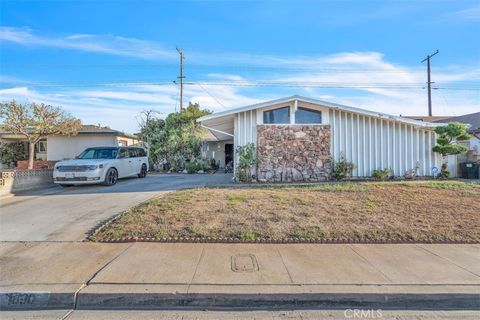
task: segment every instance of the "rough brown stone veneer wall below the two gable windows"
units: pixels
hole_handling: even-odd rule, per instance
[[[325,181],[330,176],[330,125],[258,125],[259,182]]]

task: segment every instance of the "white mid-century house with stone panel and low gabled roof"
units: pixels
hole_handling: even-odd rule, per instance
[[[198,121],[210,131],[211,150],[233,142],[253,143],[256,175],[262,182],[323,181],[333,161],[344,155],[353,176],[368,177],[390,168],[395,176],[413,170],[431,176],[441,158],[432,152],[441,124],[417,121],[301,96],[254,104]],[[222,161],[221,152],[213,155]],[[236,158],[236,155],[234,155]],[[225,159],[223,159],[225,161]]]

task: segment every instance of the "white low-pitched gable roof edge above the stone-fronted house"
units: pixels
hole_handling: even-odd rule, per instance
[[[403,123],[407,123],[407,124],[411,124],[411,125],[415,125],[415,126],[419,126],[419,127],[438,127],[438,126],[441,125],[441,124],[438,124],[438,123],[418,121],[418,120],[408,119],[408,118],[404,118],[404,117],[400,117],[400,116],[394,116],[394,115],[390,115],[390,114],[386,114],[386,113],[369,111],[369,110],[360,109],[360,108],[356,108],[356,107],[350,107],[350,106],[346,106],[346,105],[342,105],[342,104],[338,104],[338,103],[332,103],[332,102],[323,101],[323,100],[306,98],[306,97],[302,97],[302,96],[298,96],[298,95],[294,95],[294,96],[290,96],[290,97],[286,97],[286,98],[281,98],[281,99],[277,99],[277,100],[266,101],[266,102],[257,103],[257,104],[252,104],[252,105],[248,105],[248,106],[244,106],[244,107],[240,107],[240,108],[234,108],[234,109],[230,109],[230,110],[226,110],[226,111],[222,111],[222,112],[217,112],[217,113],[214,113],[214,114],[203,116],[203,117],[199,118],[197,121],[202,122],[202,121],[206,121],[206,120],[210,120],[210,119],[215,119],[215,118],[219,118],[219,117],[233,115],[233,114],[239,113],[239,112],[245,112],[245,111],[255,110],[255,109],[259,109],[259,108],[263,108],[263,107],[268,107],[268,106],[275,105],[275,104],[289,103],[289,102],[292,102],[292,101],[295,101],[295,100],[305,102],[305,103],[318,104],[318,105],[325,106],[325,107],[330,108],[330,109],[347,111],[347,112],[352,112],[352,113],[361,114],[361,115],[365,115],[365,116],[376,117],[376,118],[380,118],[380,119],[403,122]]]

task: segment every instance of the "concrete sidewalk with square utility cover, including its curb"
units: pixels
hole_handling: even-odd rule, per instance
[[[480,309],[480,245],[2,243],[2,309]]]

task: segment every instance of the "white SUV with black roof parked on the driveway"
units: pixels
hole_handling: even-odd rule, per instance
[[[61,186],[102,183],[112,186],[119,178],[147,175],[148,158],[142,148],[88,148],[73,160],[55,164],[53,181]]]

